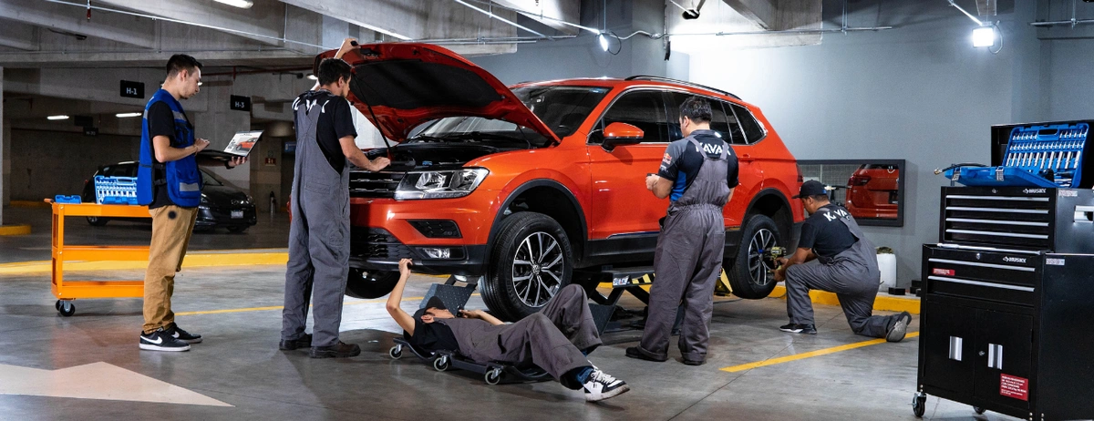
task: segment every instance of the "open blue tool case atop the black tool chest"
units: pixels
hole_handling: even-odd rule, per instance
[[[1086,122],[1015,127],[1002,165],[957,167],[945,175],[966,186],[1079,187],[1089,132]]]

